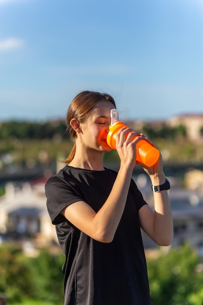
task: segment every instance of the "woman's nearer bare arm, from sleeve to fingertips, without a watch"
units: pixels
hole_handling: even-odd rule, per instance
[[[135,165],[135,144],[143,139],[143,137],[139,137],[130,142],[134,133],[129,133],[125,140],[128,132],[129,129],[122,129],[117,134],[116,149],[121,159],[120,170],[111,193],[102,208],[95,213],[87,203],[79,201],[62,211],[62,214],[74,226],[100,242],[109,243],[114,237],[125,208]]]

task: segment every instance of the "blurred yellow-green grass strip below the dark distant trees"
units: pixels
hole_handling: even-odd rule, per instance
[[[154,141],[155,145],[159,147],[164,155],[168,155],[168,159],[164,161],[169,162],[203,162],[203,143],[191,143],[187,140],[168,140],[158,138]],[[71,140],[18,140],[11,141],[9,139],[0,140],[0,154],[10,153],[14,164],[22,164],[26,160],[33,160],[35,163],[45,162],[50,164],[54,160],[64,160],[73,148],[73,141]],[[46,160],[40,160],[40,153],[44,152],[47,156]],[[107,161],[119,161],[116,151],[105,154]]]

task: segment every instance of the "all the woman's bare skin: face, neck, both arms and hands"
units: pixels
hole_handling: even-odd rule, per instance
[[[76,152],[69,166],[76,168],[104,171],[103,155],[110,152],[106,138],[111,124],[110,112],[114,106],[109,101],[101,101],[92,109],[88,119],[79,123],[71,120],[77,136]],[[129,131],[131,133],[129,133]],[[128,135],[127,135],[128,134]],[[112,187],[111,193],[102,208],[96,213],[84,201],[77,201],[62,211],[62,214],[75,227],[93,239],[109,243],[122,217],[131,181],[132,171],[136,163],[136,144],[145,138],[133,136],[131,129],[122,128],[116,135],[116,150],[120,157],[120,169]],[[152,167],[144,167],[153,185],[165,183],[162,156]],[[168,246],[173,238],[173,225],[167,191],[154,194],[154,210],[144,205],[139,210],[141,228],[160,246]],[[95,198],[96,200],[96,198]],[[132,241],[133,242],[133,241]]]

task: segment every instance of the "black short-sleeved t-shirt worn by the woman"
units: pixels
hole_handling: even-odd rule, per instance
[[[146,204],[131,180],[126,206],[111,243],[95,241],[62,214],[85,201],[97,212],[117,172],[65,166],[45,186],[47,208],[65,254],[65,305],[150,305],[148,275],[138,210]]]

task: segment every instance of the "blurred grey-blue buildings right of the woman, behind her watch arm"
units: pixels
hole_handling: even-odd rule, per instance
[[[192,171],[193,172],[193,171]],[[194,171],[196,172],[196,171]],[[203,172],[202,172],[203,175]],[[189,175],[189,178],[191,173]],[[174,238],[172,247],[178,247],[189,243],[197,248],[203,255],[203,192],[200,184],[197,188],[183,188],[178,178],[168,177],[171,189],[168,191],[174,227]],[[187,182],[188,175],[185,175]],[[198,180],[200,181],[200,180]],[[153,193],[150,188],[150,181],[141,174],[135,178],[138,188],[143,193],[144,199],[153,208]],[[202,181],[203,187],[203,181]],[[143,242],[145,248],[156,247],[155,243],[144,233]]]

